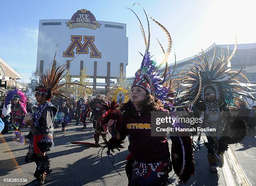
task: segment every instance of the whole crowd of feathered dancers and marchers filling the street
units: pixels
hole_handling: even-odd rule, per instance
[[[66,133],[66,126],[72,119],[78,126],[82,123],[82,129],[87,128],[87,122],[92,122],[95,144],[100,143],[101,136],[108,155],[115,149],[120,151],[128,136],[130,154],[125,171],[129,186],[164,186],[172,169],[181,183],[187,183],[195,173],[193,151],[198,150],[200,140],[195,145],[192,136],[197,133],[177,132],[170,135],[170,151],[167,133],[151,136],[152,112],[164,112],[173,118],[202,118],[202,128],[215,128],[214,132],[205,132],[207,158],[212,172],[217,172],[217,162],[228,145],[241,141],[248,127],[251,128],[250,134],[255,135],[256,105],[250,105],[248,100],[256,100],[249,93],[246,83],[243,85],[246,76],[241,71],[230,70],[228,65],[237,44],[228,56],[222,53],[223,56],[210,58],[202,53],[187,67],[189,70],[183,70],[177,77],[174,76],[176,64],[171,70],[167,65],[172,47],[171,36],[163,25],[151,19],[164,30],[168,39],[166,51],[160,44],[164,53],[161,64],[166,64],[164,73],[160,74],[161,65],[156,65],[148,51],[150,33],[146,38],[143,32],[146,50],[130,88],[117,85],[106,97],[97,95],[92,99],[79,98],[76,101],[63,95],[60,88],[64,85],[58,84],[68,64],[58,68],[52,64],[36,89],[38,105],[32,111],[27,112],[27,98],[17,88],[5,96],[2,104],[5,128],[2,132],[8,132],[8,123],[11,122],[14,130],[19,131],[15,133],[15,140],[18,141],[20,129],[30,127],[30,145],[25,161],[36,163],[36,179],[31,185],[44,184],[46,176],[52,171],[47,152],[54,146],[54,127],[61,124],[62,133]],[[142,25],[141,29],[144,30]],[[85,87],[79,83],[74,85]],[[184,87],[180,88],[181,85]],[[239,112],[235,114],[232,110]],[[173,126],[182,128],[184,123],[177,122]],[[108,132],[111,133],[110,139],[106,136]]]

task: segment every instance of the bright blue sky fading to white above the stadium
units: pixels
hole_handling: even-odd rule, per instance
[[[256,1],[254,0],[1,0],[0,57],[23,75],[28,82],[36,69],[38,23],[40,19],[70,19],[82,8],[97,20],[127,24],[129,63],[126,76],[134,75],[141,64],[145,46],[136,17],[126,7],[141,3],[146,11],[169,30],[177,60],[197,54],[213,43],[233,44],[234,32],[239,43],[256,43]],[[139,6],[133,7],[146,28]],[[150,52],[158,62],[161,50],[156,37],[166,48],[164,32],[151,21]],[[173,63],[173,50],[169,63]]]

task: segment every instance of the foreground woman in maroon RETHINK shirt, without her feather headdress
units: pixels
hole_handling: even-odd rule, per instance
[[[151,111],[164,111],[163,104],[141,86],[133,86],[131,99],[124,103],[123,123],[116,126],[116,138],[129,136],[130,159],[126,167],[129,185],[164,185],[172,171],[167,136],[151,136]],[[108,122],[108,127],[115,123]]]

